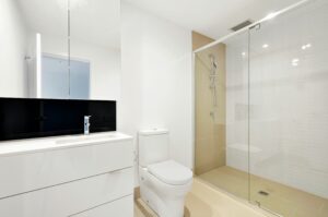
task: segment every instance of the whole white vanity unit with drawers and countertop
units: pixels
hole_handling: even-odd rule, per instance
[[[118,132],[0,143],[0,216],[132,217],[132,137]]]

